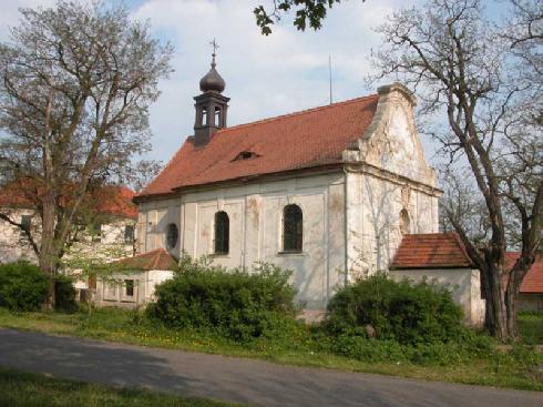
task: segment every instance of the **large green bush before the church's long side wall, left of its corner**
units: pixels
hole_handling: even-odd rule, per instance
[[[273,336],[296,316],[289,271],[258,264],[226,271],[184,257],[174,278],[156,287],[147,315],[175,328],[219,330],[235,340]]]

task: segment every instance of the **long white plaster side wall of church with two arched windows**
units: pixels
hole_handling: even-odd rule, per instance
[[[298,299],[308,308],[322,308],[342,279],[345,257],[344,176],[341,173],[248,184],[193,192],[181,200],[143,203],[146,251],[165,247],[168,222],[180,228],[180,245],[193,257],[212,256],[226,267],[250,267],[255,262],[274,263],[294,271]],[[303,253],[281,253],[283,208],[297,204],[304,213]],[[229,217],[229,253],[214,255],[214,217]],[[165,221],[167,218],[167,221]],[[157,227],[155,226],[157,225]]]

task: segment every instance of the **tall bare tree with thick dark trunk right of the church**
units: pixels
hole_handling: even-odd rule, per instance
[[[515,298],[541,247],[543,216],[543,6],[510,6],[502,22],[480,0],[429,0],[393,13],[378,29],[385,42],[373,78],[401,78],[422,114],[445,118],[433,131],[448,157],[442,207],[481,271],[485,325],[501,339],[516,336]],[[512,246],[521,253],[508,267]]]

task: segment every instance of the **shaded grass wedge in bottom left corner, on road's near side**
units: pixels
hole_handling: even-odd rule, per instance
[[[219,407],[230,404],[165,395],[143,389],[113,388],[0,368],[2,407]]]

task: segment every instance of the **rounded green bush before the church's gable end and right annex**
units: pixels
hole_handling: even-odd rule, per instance
[[[447,288],[427,281],[396,282],[385,274],[339,289],[328,305],[325,328],[332,335],[363,337],[368,324],[377,338],[403,345],[455,340],[465,333],[462,311]]]

